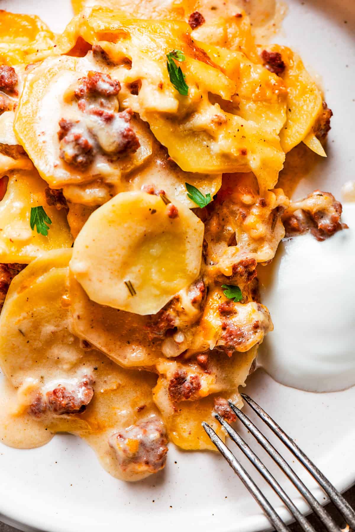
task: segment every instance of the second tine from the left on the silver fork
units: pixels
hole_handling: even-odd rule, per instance
[[[247,458],[252,462],[255,468],[259,473],[266,479],[270,486],[274,489],[280,499],[285,503],[288,510],[292,513],[293,517],[300,523],[302,530],[305,532],[315,532],[315,529],[309,523],[309,521],[302,515],[299,509],[293,504],[290,497],[285,493],[284,489],[279,485],[277,480],[271,475],[270,471],[265,467],[261,462],[259,457],[251,450],[249,445],[245,443],[244,439],[236,433],[236,431],[225,421],[219,414],[213,414],[214,417],[220,422],[222,427],[224,427],[231,439],[238,445],[238,447],[243,451]]]

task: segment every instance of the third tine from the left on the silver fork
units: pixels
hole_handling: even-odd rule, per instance
[[[341,532],[340,527],[336,522],[329,516],[328,512],[319,504],[317,499],[311,494],[309,489],[303,484],[300,477],[296,475],[294,470],[288,465],[286,460],[276,451],[275,447],[271,445],[269,440],[263,436],[260,430],[255,427],[254,423],[243,413],[241,412],[232,401],[228,401],[230,408],[237,415],[237,417],[242,421],[243,425],[249,429],[250,433],[254,436],[258,443],[266,450],[266,452],[271,456],[271,458],[277,463],[277,465],[283,470],[285,475],[292,481],[296,486],[298,491],[306,499],[308,504],[311,506],[312,510],[317,514],[319,519],[324,523],[326,529],[329,532]]]

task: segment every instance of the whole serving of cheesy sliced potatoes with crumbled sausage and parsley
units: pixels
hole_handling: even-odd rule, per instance
[[[1,12],[0,433],[75,434],[140,480],[235,421],[274,328],[257,268],[346,227],[331,193],[278,183],[300,143],[325,156],[332,111],[252,8],[73,10],[61,35]]]

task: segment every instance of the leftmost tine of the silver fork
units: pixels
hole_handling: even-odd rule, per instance
[[[230,467],[234,470],[234,472],[237,473],[238,477],[241,479],[244,486],[247,489],[249,489],[252,496],[260,504],[261,508],[266,513],[269,521],[271,522],[271,525],[275,527],[277,532],[290,532],[290,529],[285,525],[283,520],[278,516],[273,506],[271,506],[267,498],[261,493],[258,486],[254,483],[252,478],[245,471],[242,464],[238,462],[234,454],[228,449],[227,445],[225,445],[222,442],[222,440],[217,436],[214,430],[205,421],[203,421],[201,424],[202,424],[202,427],[207,432],[209,438],[211,439],[211,442],[214,445],[216,445],[218,451],[227,460],[227,462],[229,463]]]

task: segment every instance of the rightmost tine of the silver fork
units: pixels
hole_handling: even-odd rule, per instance
[[[344,497],[335,489],[333,484],[323,475],[321,471],[317,468],[315,464],[304,454],[298,445],[287,436],[287,434],[280,428],[277,423],[270,418],[270,416],[252,400],[249,395],[242,394],[242,397],[245,401],[251,406],[251,408],[256,412],[259,417],[267,423],[271,430],[282,440],[288,449],[296,456],[296,458],[304,465],[304,467],[311,473],[311,475],[317,480],[318,484],[324,489],[326,494],[329,496],[330,500],[334,503],[336,508],[345,518],[346,522],[355,529],[355,512],[351,508],[348,501],[345,501]]]

